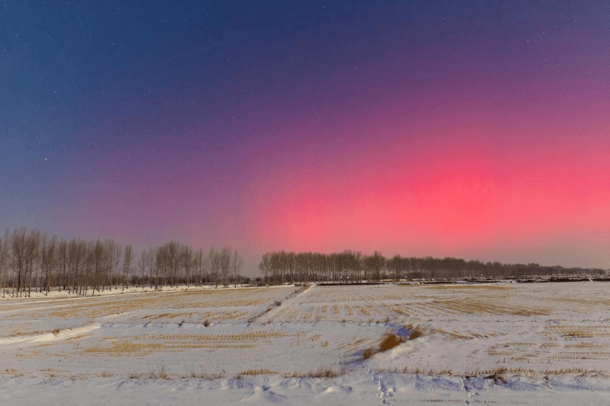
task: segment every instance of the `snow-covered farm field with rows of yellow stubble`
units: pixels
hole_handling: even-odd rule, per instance
[[[0,405],[610,405],[608,283],[0,299]],[[364,359],[386,333],[404,342]]]

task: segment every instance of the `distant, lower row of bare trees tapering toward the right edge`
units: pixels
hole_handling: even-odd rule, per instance
[[[318,252],[268,252],[258,269],[266,283],[361,283],[394,281],[448,281],[453,279],[530,278],[605,273],[602,269],[563,268],[539,264],[501,264],[445,257],[385,258],[381,252],[362,254],[346,250],[333,254]]]

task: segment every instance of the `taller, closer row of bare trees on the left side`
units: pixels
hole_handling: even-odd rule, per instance
[[[169,241],[136,254],[112,238],[66,240],[49,237],[37,228],[6,230],[0,237],[0,289],[2,297],[48,294],[52,288],[88,295],[129,286],[229,285],[241,281],[244,261],[239,252],[193,247]]]

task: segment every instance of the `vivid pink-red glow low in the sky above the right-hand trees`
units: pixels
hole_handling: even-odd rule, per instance
[[[436,142],[414,147],[417,154],[405,153],[402,161],[395,151],[400,139],[393,137],[381,159],[371,161],[364,148],[345,161],[337,156],[349,176],[329,172],[319,180],[307,177],[315,169],[290,168],[301,176],[277,176],[268,188],[275,194],[257,196],[258,247],[485,254],[498,244],[523,251],[524,241],[556,235],[582,244],[584,235],[610,223],[610,149],[599,137],[590,145],[525,137],[501,149]]]

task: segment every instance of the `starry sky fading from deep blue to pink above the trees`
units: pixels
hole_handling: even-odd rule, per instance
[[[6,1],[0,227],[610,267],[610,6]]]

